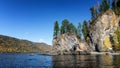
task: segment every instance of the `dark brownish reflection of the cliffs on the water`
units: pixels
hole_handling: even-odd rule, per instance
[[[120,68],[120,56],[65,55],[53,56],[54,68]]]

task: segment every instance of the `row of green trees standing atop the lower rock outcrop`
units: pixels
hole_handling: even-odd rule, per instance
[[[81,23],[76,27],[73,23],[70,23],[67,19],[62,21],[62,25],[60,26],[58,21],[54,23],[54,33],[53,38],[56,38],[60,34],[65,33],[75,33],[81,39]]]

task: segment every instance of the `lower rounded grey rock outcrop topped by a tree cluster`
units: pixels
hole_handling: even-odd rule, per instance
[[[88,51],[90,49],[92,48],[89,48],[85,42],[80,42],[76,34],[73,33],[62,34],[53,39],[54,54],[71,54],[75,51]]]

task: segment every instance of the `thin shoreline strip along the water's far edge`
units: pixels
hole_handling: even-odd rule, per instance
[[[40,53],[40,52],[0,52],[0,53],[39,53],[40,55],[120,55],[120,52],[86,52],[86,51],[80,51],[80,52],[72,52],[72,53],[66,53],[66,54],[52,54],[52,53]]]

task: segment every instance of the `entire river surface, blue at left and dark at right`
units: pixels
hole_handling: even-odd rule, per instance
[[[0,68],[120,68],[120,55],[0,53]]]

